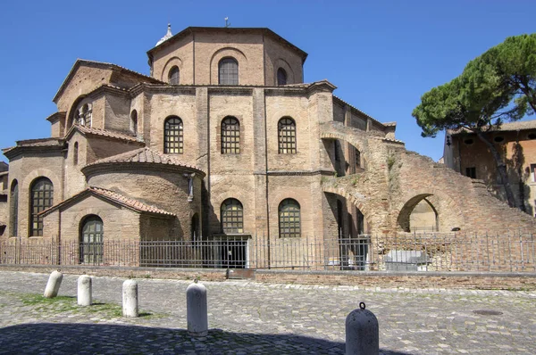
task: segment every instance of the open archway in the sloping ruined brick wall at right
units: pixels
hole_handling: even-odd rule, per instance
[[[419,194],[409,199],[398,213],[398,227],[404,232],[439,231],[439,214],[430,202],[432,194]]]

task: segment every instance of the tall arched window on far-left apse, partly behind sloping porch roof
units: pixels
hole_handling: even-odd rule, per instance
[[[54,186],[46,177],[39,177],[30,187],[30,217],[29,217],[29,236],[43,235],[43,217],[38,213],[52,207],[54,202]]]

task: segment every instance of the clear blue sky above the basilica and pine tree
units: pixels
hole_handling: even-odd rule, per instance
[[[309,54],[305,81],[328,79],[335,95],[381,122],[397,121],[408,150],[443,153],[411,112],[431,87],[506,37],[536,31],[536,1],[10,1],[0,9],[0,147],[50,136],[46,117],[77,58],[149,74],[147,50],[168,21],[267,27]],[[0,154],[0,160],[7,161]]]

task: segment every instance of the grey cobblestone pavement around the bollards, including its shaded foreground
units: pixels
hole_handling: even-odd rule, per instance
[[[345,318],[360,301],[379,320],[383,354],[536,353],[534,292],[201,280],[210,330],[192,338],[188,281],[138,279],[143,317],[121,318],[124,279],[94,277],[96,305],[80,308],[77,277],[63,277],[63,297],[43,301],[47,277],[0,272],[0,354],[340,354]]]

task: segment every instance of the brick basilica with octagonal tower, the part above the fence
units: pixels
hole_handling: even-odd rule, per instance
[[[307,54],[270,29],[168,29],[147,56],[150,76],[76,61],[50,137],[4,149],[0,238],[388,236],[418,229],[417,205],[434,231],[534,230],[481,181],[407,152],[395,123],[304,83]]]

